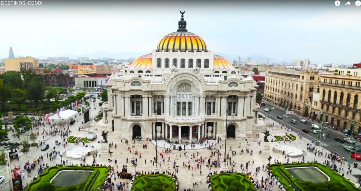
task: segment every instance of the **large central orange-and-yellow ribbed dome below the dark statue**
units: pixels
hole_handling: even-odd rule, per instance
[[[188,31],[177,31],[165,35],[162,40],[159,41],[157,46],[157,52],[162,50],[168,51],[182,51],[186,52],[208,52],[207,45],[204,40]]]

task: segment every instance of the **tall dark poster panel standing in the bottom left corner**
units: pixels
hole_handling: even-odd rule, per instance
[[[10,190],[23,191],[19,153],[18,151],[13,151],[5,152],[5,154],[8,159],[8,165],[6,166],[9,168],[9,177],[11,177]]]

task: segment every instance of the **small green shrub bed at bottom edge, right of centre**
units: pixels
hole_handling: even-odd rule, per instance
[[[214,174],[210,177],[210,183],[214,191],[257,190],[247,175],[243,173]]]

